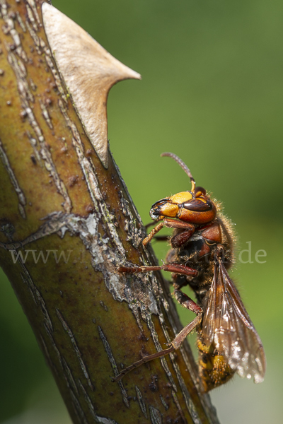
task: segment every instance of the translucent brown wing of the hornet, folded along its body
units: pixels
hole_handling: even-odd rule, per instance
[[[255,383],[263,381],[265,352],[260,336],[221,259],[215,264],[202,331],[207,346],[214,343],[238,375],[248,379],[253,377]]]

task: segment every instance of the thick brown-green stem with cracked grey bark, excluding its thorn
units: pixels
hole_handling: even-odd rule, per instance
[[[74,423],[218,423],[186,343],[111,382],[181,326],[158,273],[117,273],[155,259],[109,149],[102,161],[79,119],[41,6],[0,0],[0,265]]]

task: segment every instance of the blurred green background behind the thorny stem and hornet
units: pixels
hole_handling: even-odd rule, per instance
[[[144,223],[163,196],[190,187],[163,151],[221,199],[253,264],[238,282],[267,355],[263,384],[212,392],[222,424],[282,423],[283,3],[239,0],[54,0],[142,81],[112,88],[110,148]],[[165,232],[165,230],[164,230]],[[158,258],[168,247],[156,243]],[[264,249],[264,264],[255,253]],[[248,260],[248,255],[243,254]],[[191,319],[181,311],[183,322]],[[69,424],[5,276],[0,285],[0,423]],[[192,343],[194,338],[191,336]],[[122,423],[121,423],[122,424]]]

